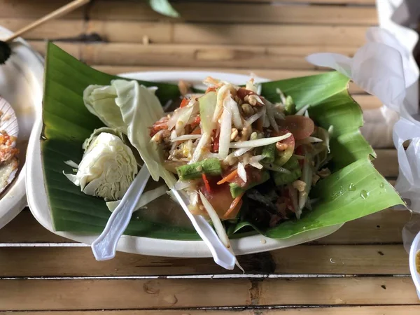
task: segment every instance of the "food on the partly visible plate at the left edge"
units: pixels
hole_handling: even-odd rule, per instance
[[[0,193],[5,190],[18,172],[19,150],[18,120],[6,99],[0,97]]]

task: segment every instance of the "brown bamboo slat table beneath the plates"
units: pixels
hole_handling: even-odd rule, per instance
[[[63,0],[0,0],[0,25],[18,29]],[[308,3],[321,3],[309,5]],[[109,73],[211,69],[272,79],[318,73],[310,52],[351,55],[377,24],[374,0],[186,1],[180,20],[142,1],[101,0],[27,35]],[[381,104],[351,86],[363,109]],[[375,165],[398,176],[396,152]],[[311,244],[239,257],[227,272],[209,259],[118,253],[96,262],[90,248],[44,230],[28,209],[0,230],[0,313],[50,315],[420,314],[402,247],[407,211],[347,223]]]

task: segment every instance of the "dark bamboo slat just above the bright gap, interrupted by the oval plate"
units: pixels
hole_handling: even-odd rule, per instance
[[[314,244],[390,244],[402,243],[402,228],[409,221],[409,211],[387,209],[346,223],[328,237]],[[74,242],[45,230],[29,213],[22,211],[0,230],[1,243],[68,243]]]

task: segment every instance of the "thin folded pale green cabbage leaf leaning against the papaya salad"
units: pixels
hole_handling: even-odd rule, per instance
[[[162,177],[172,188],[176,183],[175,176],[163,166],[160,148],[151,141],[148,130],[165,116],[154,91],[139,85],[136,80],[113,80],[110,86],[90,85],[83,95],[85,106],[91,113],[105,125],[127,134],[152,178],[158,181]]]

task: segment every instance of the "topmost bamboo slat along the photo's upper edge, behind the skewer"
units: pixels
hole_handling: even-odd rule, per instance
[[[31,0],[0,0],[0,18],[41,18],[68,2],[43,0],[34,5],[34,1]],[[184,0],[177,1],[173,5],[181,14],[181,20],[197,22],[302,22],[304,24],[374,24],[377,22],[374,0],[230,0],[225,2],[227,3],[221,1],[194,3]],[[323,6],[299,6],[294,3],[314,3],[323,4]],[[370,6],[337,6],[337,4],[369,4]],[[112,15],[109,12],[112,12]],[[90,6],[68,13],[66,18],[83,18],[84,16],[98,20],[167,19],[165,15],[153,11],[146,3],[127,0],[94,1]],[[325,16],[328,16],[328,19],[325,19]]]

